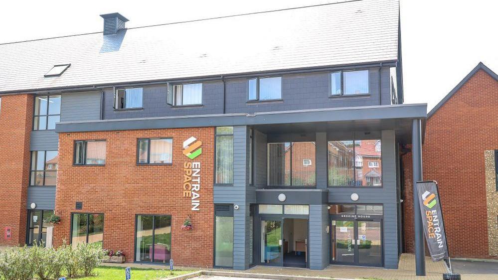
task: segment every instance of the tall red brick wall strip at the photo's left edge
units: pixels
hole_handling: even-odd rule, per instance
[[[29,175],[29,134],[33,97],[28,94],[1,97],[0,107],[0,245],[24,244]],[[5,227],[12,237],[5,240]]]

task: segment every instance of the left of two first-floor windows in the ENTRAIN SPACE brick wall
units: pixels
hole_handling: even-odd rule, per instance
[[[74,143],[75,165],[104,165],[106,140],[85,140]]]

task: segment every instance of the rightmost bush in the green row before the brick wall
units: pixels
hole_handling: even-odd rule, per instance
[[[76,260],[78,268],[84,276],[90,276],[93,270],[102,264],[106,258],[102,245],[99,243],[78,244],[76,247]]]

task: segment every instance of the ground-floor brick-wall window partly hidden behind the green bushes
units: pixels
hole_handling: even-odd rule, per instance
[[[73,213],[71,217],[71,244],[99,243],[104,241],[104,214]]]

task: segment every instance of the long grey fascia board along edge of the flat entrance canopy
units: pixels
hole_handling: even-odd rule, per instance
[[[57,123],[57,133],[142,129],[247,126],[311,122],[340,122],[385,119],[425,119],[427,104],[383,105],[265,112],[214,114],[181,117],[98,120]]]

